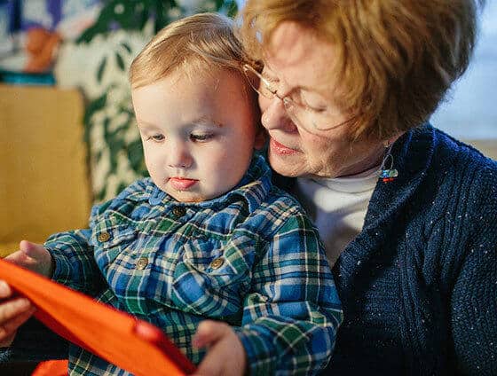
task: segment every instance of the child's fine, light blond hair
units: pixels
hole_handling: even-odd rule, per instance
[[[181,70],[194,77],[213,69],[243,74],[249,62],[233,34],[233,20],[218,13],[198,13],[171,22],[154,36],[130,66],[132,89],[160,81]]]

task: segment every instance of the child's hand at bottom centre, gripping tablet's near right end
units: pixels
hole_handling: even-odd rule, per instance
[[[245,349],[230,325],[202,321],[193,337],[193,346],[208,348],[193,376],[242,376],[245,373]]]

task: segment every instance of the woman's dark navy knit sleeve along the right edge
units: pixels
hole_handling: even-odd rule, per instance
[[[497,168],[475,176],[473,226],[454,283],[451,323],[463,374],[497,374]]]

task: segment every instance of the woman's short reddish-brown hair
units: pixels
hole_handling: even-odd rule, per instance
[[[464,73],[484,1],[248,0],[239,34],[260,60],[283,21],[333,43],[332,73],[343,82],[337,100],[357,115],[351,136],[384,139],[427,121]]]

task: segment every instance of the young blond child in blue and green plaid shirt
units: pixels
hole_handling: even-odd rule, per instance
[[[9,259],[157,325],[195,364],[209,349],[199,372],[311,374],[342,310],[312,223],[253,153],[247,62],[223,16],[162,29],[130,67],[150,178],[94,207],[89,229]],[[69,368],[122,374],[75,346]]]

